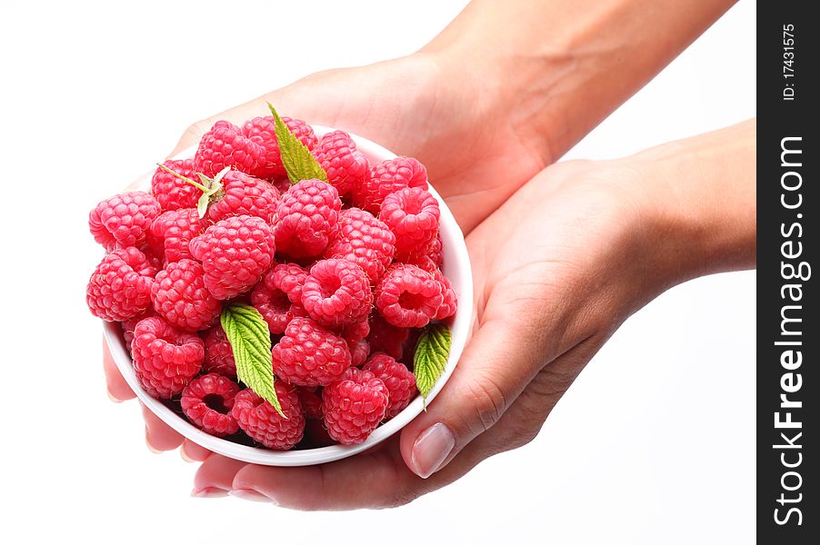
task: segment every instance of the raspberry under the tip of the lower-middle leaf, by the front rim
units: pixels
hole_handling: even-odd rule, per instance
[[[305,415],[299,405],[296,389],[283,381],[275,381],[276,399],[282,407],[282,418],[274,406],[256,392],[246,388],[236,394],[231,414],[239,427],[254,441],[275,451],[289,451],[302,441],[305,433]]]

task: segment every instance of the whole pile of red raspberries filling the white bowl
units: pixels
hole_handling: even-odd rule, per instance
[[[281,451],[359,443],[415,397],[420,329],[455,313],[439,204],[415,159],[370,164],[349,134],[284,121],[327,182],[290,183],[273,117],[219,121],[149,193],[90,213],[107,253],[86,301],[122,324],[145,391],[203,431]],[[185,180],[199,174],[222,183],[203,217]],[[232,302],[267,322],[286,418],[236,379],[219,321]]]

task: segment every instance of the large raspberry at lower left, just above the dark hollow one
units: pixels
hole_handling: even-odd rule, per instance
[[[205,345],[195,333],[181,332],[153,316],[136,324],[131,342],[136,378],[149,395],[170,399],[199,372]]]

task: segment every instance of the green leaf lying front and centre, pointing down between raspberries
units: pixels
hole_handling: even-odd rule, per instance
[[[237,302],[225,306],[220,322],[234,352],[236,376],[287,418],[276,398],[271,335],[262,314]]]

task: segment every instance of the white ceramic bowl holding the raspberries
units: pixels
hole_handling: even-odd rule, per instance
[[[319,137],[333,130],[320,125],[313,125],[313,127],[316,135]],[[367,155],[371,163],[378,163],[385,159],[395,157],[395,154],[361,136],[351,134],[351,137],[354,139],[356,147]],[[175,156],[175,159],[190,157],[194,152],[195,148],[189,148]],[[145,174],[145,177],[140,183],[140,188],[147,191],[150,188],[150,179],[151,173]],[[450,213],[450,210],[447,208],[441,196],[436,193],[432,187],[429,191],[433,193],[441,207],[441,236],[444,243],[445,259],[443,272],[453,284],[453,288],[458,296],[458,309],[455,312],[455,319],[453,321],[453,344],[450,349],[450,357],[447,361],[445,372],[442,373],[438,381],[435,382],[433,390],[430,391],[427,396],[427,404],[432,402],[438,392],[444,387],[445,382],[455,369],[455,364],[461,357],[462,352],[464,352],[465,343],[470,333],[471,317],[473,315],[473,274],[470,269],[470,259],[467,255],[464,235],[461,232],[461,228],[455,223],[453,214]],[[272,466],[305,466],[340,460],[348,456],[353,456],[357,452],[365,451],[381,441],[385,441],[385,439],[393,435],[396,431],[401,430],[407,422],[413,420],[416,415],[424,410],[423,401],[421,395],[419,395],[415,400],[410,402],[404,411],[401,411],[395,418],[376,428],[365,442],[357,445],[333,445],[304,451],[269,451],[267,449],[241,445],[233,441],[220,439],[205,433],[205,431],[199,430],[166,407],[162,401],[155,400],[145,393],[136,380],[134,367],[131,362],[131,354],[125,346],[119,323],[104,323],[105,339],[111,349],[111,355],[114,357],[117,368],[123,373],[125,381],[128,382],[128,385],[135,392],[136,397],[145,403],[145,406],[153,411],[156,416],[185,438],[202,445],[209,451],[222,454],[235,460]]]

